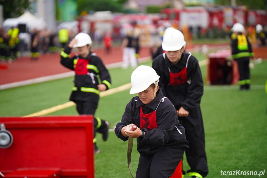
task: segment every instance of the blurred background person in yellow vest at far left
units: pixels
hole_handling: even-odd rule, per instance
[[[19,28],[12,27],[8,30],[7,34],[9,35],[8,47],[9,47],[9,58],[17,59],[19,50]]]

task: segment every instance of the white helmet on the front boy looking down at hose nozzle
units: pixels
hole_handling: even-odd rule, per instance
[[[131,75],[132,88],[130,94],[135,94],[146,90],[151,84],[159,79],[157,72],[149,66],[137,67]]]

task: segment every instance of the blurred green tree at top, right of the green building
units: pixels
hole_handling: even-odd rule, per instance
[[[77,11],[80,14],[82,11],[121,12],[123,4],[112,0],[78,0],[77,6]]]

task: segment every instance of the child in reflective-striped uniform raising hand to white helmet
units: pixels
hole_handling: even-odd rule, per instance
[[[95,53],[90,51],[92,47],[91,37],[86,33],[79,33],[73,38],[61,54],[60,63],[75,71],[75,86],[72,88],[70,100],[76,103],[78,113],[94,115],[97,109],[99,94],[111,87],[111,79],[108,70]],[[72,48],[78,48],[78,56],[70,58]],[[99,75],[101,84],[98,82]],[[108,137],[110,123],[98,117],[94,117],[94,134],[102,133],[104,141]],[[96,138],[93,140],[95,154],[99,153]]]

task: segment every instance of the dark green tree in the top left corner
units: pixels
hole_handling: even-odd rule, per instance
[[[16,18],[28,9],[31,4],[29,0],[0,0],[3,5],[3,18]]]

